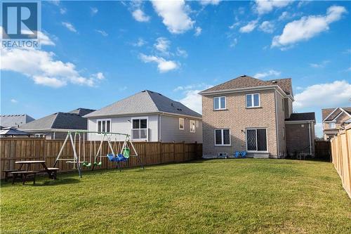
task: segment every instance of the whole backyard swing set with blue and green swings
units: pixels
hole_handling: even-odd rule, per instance
[[[81,137],[81,134],[83,137]],[[96,141],[90,141],[89,144],[89,154],[86,155],[86,135],[87,134],[100,134],[100,144],[98,150],[96,149]],[[123,145],[121,146],[121,142],[119,142],[117,147],[117,136],[125,136]],[[114,143],[112,146],[111,137],[114,136]],[[70,141],[73,149],[73,158],[62,158],[62,153],[65,150],[65,145],[67,142]],[[102,155],[102,144],[104,141],[107,141],[107,155]],[[81,147],[82,146],[82,147]],[[82,148],[82,149],[81,149]],[[133,150],[133,155],[131,154],[131,150]],[[117,152],[117,154],[115,154]],[[82,157],[81,157],[82,156]],[[131,141],[131,136],[128,134],[119,134],[119,133],[112,133],[112,132],[98,132],[98,131],[67,131],[67,136],[65,141],[60,148],[60,152],[58,153],[58,157],[56,157],[55,163],[53,167],[59,161],[66,161],[66,163],[73,164],[73,168],[77,167],[79,177],[81,177],[81,168],[91,168],[93,170],[95,167],[102,166],[102,157],[107,157],[110,162],[116,162],[116,168],[121,171],[121,167],[119,165],[120,162],[128,162],[129,158],[133,156],[136,157],[140,167],[144,169],[143,163],[138,157],[138,152],[135,150],[133,145],[133,141]],[[86,159],[89,158],[89,161]],[[93,161],[92,161],[93,160]]]

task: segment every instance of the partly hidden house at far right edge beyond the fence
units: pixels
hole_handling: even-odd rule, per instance
[[[322,109],[322,119],[324,140],[329,140],[351,122],[351,108]]]

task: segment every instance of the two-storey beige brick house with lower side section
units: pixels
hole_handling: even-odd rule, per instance
[[[304,153],[305,138],[310,146],[305,153],[314,155],[315,120],[309,114],[293,114],[291,79],[263,81],[243,75],[199,94],[204,157],[246,150],[249,157],[282,158]],[[291,131],[305,134],[303,142],[290,139]]]

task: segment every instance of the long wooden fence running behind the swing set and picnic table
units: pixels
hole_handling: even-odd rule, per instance
[[[20,160],[45,160],[48,167],[53,167],[58,152],[63,145],[63,140],[46,140],[45,138],[0,138],[0,160],[1,178],[4,178],[3,171],[6,169],[17,169],[15,161]],[[95,142],[96,151],[100,141]],[[121,143],[122,144],[122,143]],[[140,160],[144,165],[167,164],[173,162],[186,162],[198,159],[202,156],[202,144],[198,143],[161,143],[161,142],[133,142]],[[92,147],[91,147],[92,145]],[[94,158],[94,142],[85,142],[85,160],[90,160],[90,149],[92,148],[92,161]],[[117,143],[118,145],[118,143]],[[116,148],[117,148],[116,145]],[[79,150],[76,145],[76,150]],[[107,142],[102,143],[102,155],[110,152]],[[78,153],[78,152],[77,152]],[[133,154],[132,154],[133,155]],[[70,142],[67,142],[61,158],[72,158],[73,149]],[[100,158],[98,159],[100,161]],[[81,161],[83,161],[83,143],[81,143]],[[121,162],[121,167],[138,167],[135,157],[130,157],[128,162]],[[61,172],[74,171],[74,164],[60,161],[56,164]],[[102,157],[102,166],[95,169],[112,169],[116,164]],[[36,165],[34,170],[39,170]],[[90,170],[83,168],[84,170]]]

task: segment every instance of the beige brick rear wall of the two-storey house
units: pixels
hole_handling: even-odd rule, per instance
[[[261,107],[246,109],[246,93],[260,93]],[[219,96],[227,97],[227,110],[213,110],[214,96],[202,96],[204,155],[218,155],[218,152],[227,152],[232,155],[235,150],[246,150],[246,137],[242,131],[251,127],[264,127],[267,128],[267,150],[270,155],[277,156],[274,90]],[[215,146],[214,129],[223,128],[230,129],[231,145]]]

